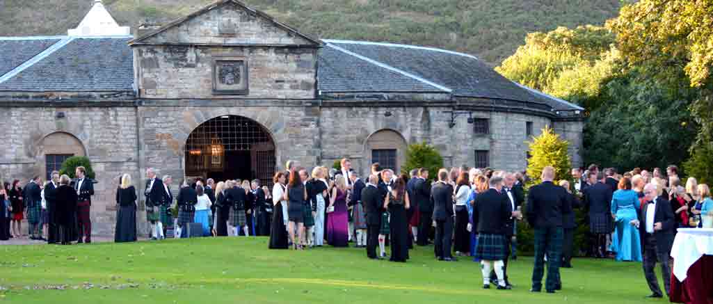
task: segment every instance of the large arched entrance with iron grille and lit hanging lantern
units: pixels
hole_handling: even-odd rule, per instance
[[[262,185],[272,185],[275,141],[265,127],[250,118],[212,118],[186,140],[185,173],[215,181],[258,178]]]

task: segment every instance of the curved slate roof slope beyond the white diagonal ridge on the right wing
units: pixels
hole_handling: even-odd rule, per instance
[[[583,110],[583,108],[542,92],[525,88],[498,74],[490,66],[468,54],[401,44],[381,44],[365,41],[324,40],[327,46],[363,56],[382,66],[389,66],[436,86],[450,89],[453,96],[508,99],[545,103],[554,110]],[[344,61],[336,61],[341,64]],[[332,69],[350,69],[347,64]],[[319,72],[322,72],[320,68]],[[355,74],[360,74],[355,71]],[[329,88],[329,78],[320,78],[320,89]],[[326,83],[323,83],[326,82]],[[327,91],[327,90],[323,90]],[[374,87],[373,91],[379,91]]]

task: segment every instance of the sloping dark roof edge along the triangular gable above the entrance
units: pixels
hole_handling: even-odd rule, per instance
[[[237,0],[220,0],[217,1],[213,4],[210,4],[208,6],[203,7],[202,9],[199,9],[198,11],[193,12],[193,14],[189,14],[188,16],[181,17],[179,19],[175,19],[174,21],[171,21],[168,24],[165,24],[164,26],[161,26],[159,29],[156,29],[155,31],[151,31],[148,34],[145,34],[140,37],[136,37],[135,39],[129,41],[129,45],[134,45],[134,44],[151,44],[150,39],[164,33],[165,31],[168,31],[170,29],[175,28],[176,26],[180,26],[181,24],[184,24],[185,22],[188,22],[190,20],[195,19],[198,16],[207,14],[208,12],[215,10],[215,9],[220,9],[223,6],[226,6],[228,4],[233,4],[240,9],[247,11],[249,14],[252,14],[253,16],[257,16],[260,19],[263,19],[265,21],[268,21],[270,24],[273,24],[274,26],[277,26],[279,29],[282,29],[286,31],[289,34],[292,34],[294,36],[297,36],[301,39],[304,39],[304,41],[307,41],[307,44],[312,44],[314,46],[322,46],[322,41],[319,39],[312,38],[311,36],[307,34],[302,34],[297,29],[292,28],[291,26],[288,26],[287,24],[282,24],[279,21],[275,20],[272,16],[265,14],[262,11],[258,11],[256,9],[252,9],[245,4],[243,4],[240,1]]]

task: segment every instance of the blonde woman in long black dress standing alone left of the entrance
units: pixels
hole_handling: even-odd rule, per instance
[[[121,177],[121,186],[116,190],[116,233],[114,242],[136,241],[136,188],[131,185],[131,176],[124,174]]]

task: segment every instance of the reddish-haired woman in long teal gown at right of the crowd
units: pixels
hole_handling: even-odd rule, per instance
[[[636,228],[639,197],[631,190],[629,178],[619,181],[619,190],[612,196],[612,215],[616,229],[612,234],[612,247],[610,250],[617,253],[616,260],[637,261],[641,257],[641,241],[639,229]]]

